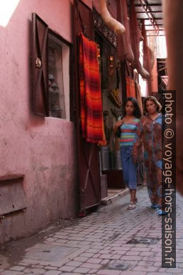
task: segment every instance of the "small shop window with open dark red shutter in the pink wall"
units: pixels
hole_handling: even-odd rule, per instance
[[[33,113],[70,119],[70,43],[33,14]]]

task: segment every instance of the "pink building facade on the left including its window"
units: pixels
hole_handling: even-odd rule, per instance
[[[0,243],[38,232],[57,218],[74,217],[79,209],[77,146],[70,118],[73,3],[13,2],[2,6],[0,22]],[[45,60],[33,60],[36,39],[36,50],[43,50],[43,26],[38,22],[33,30],[33,13],[49,28],[49,79],[45,72],[33,75],[33,67],[44,70],[45,65]],[[33,77],[40,77],[40,87],[33,87]],[[49,103],[41,90],[44,84]],[[41,102],[47,104],[46,114]]]

